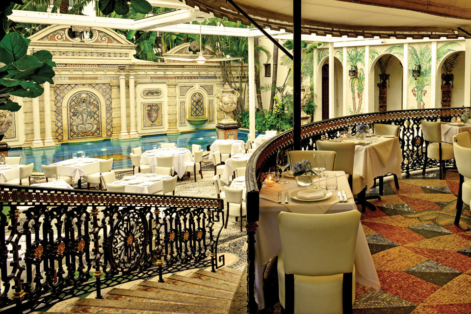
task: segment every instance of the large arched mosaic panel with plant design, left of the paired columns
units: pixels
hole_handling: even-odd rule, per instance
[[[67,102],[69,140],[102,137],[100,99],[89,91],[72,95]]]

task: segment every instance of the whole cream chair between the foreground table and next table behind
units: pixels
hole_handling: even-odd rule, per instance
[[[356,200],[362,205],[362,212],[365,212],[366,204],[371,206],[372,211],[375,211],[376,207],[366,202],[366,184],[363,182],[363,178],[353,172],[355,143],[316,141],[315,145],[319,150],[332,150],[337,153],[334,170],[344,171],[347,174],[348,184],[350,185],[352,194],[358,195]],[[379,196],[375,197],[380,198]]]

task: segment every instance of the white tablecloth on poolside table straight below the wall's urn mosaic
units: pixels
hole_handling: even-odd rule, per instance
[[[186,172],[186,164],[193,161],[191,151],[184,148],[158,148],[156,150],[147,150],[142,154],[141,164],[149,165],[152,172],[156,172],[157,156],[170,156],[173,155],[173,169],[177,172],[178,177],[183,177]]]

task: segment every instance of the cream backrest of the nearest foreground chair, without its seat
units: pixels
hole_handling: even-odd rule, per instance
[[[326,215],[281,212],[278,226],[285,273],[329,276],[352,272],[361,216],[357,210]]]

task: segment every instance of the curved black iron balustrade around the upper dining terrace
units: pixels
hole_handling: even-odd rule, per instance
[[[326,138],[335,138],[339,131],[347,126],[355,126],[359,123],[385,123],[400,126],[400,142],[402,150],[402,171],[410,173],[423,167],[423,152],[425,145],[420,129],[420,121],[441,121],[449,122],[453,117],[459,117],[470,107],[462,108],[438,108],[438,109],[413,109],[400,111],[376,112],[363,115],[335,118],[305,124],[301,127],[301,146],[306,149],[313,149],[313,143]],[[354,129],[352,130],[354,131]],[[259,191],[262,187],[260,174],[269,167],[276,165],[276,152],[278,149],[293,148],[293,130],[280,133],[277,136],[263,143],[257,149],[249,162],[246,170],[247,186],[247,290],[248,290],[248,312],[257,312],[257,303],[254,298],[255,289],[255,232],[257,221],[259,220]],[[452,162],[452,161],[451,161]],[[438,162],[429,160],[427,168],[438,167]]]

